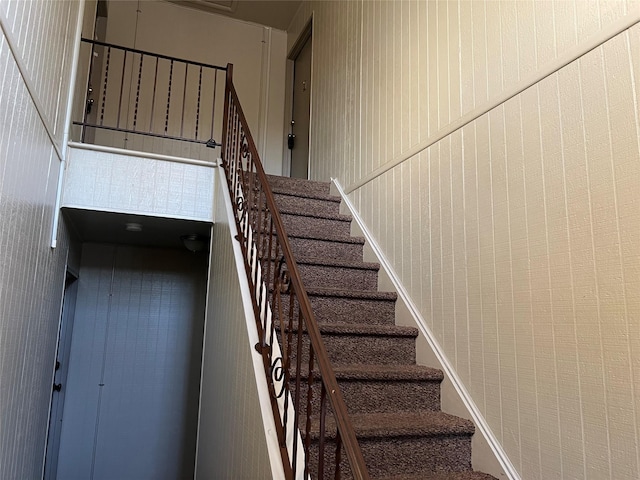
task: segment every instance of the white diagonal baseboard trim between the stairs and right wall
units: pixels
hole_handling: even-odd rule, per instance
[[[433,350],[433,353],[435,354],[436,358],[442,365],[442,369],[444,370],[445,375],[447,375],[451,380],[451,383],[453,384],[453,387],[455,388],[456,392],[460,396],[460,399],[464,403],[464,406],[469,411],[469,415],[471,419],[476,424],[476,428],[482,434],[484,439],[487,441],[487,444],[491,448],[491,451],[493,452],[493,454],[496,456],[498,463],[504,469],[504,472],[507,475],[507,478],[509,480],[521,480],[519,473],[511,463],[511,460],[509,460],[507,453],[504,451],[504,449],[502,448],[502,445],[500,444],[496,436],[493,434],[491,428],[489,427],[489,424],[487,423],[484,416],[478,409],[477,405],[471,398],[471,395],[469,394],[469,392],[467,391],[467,388],[462,383],[462,380],[460,379],[460,377],[458,377],[458,374],[453,368],[453,365],[451,365],[451,362],[449,362],[449,359],[447,358],[446,354],[440,347],[440,344],[438,343],[435,336],[433,335],[433,332],[431,331],[426,321],[422,317],[415,303],[413,303],[413,300],[409,296],[409,293],[407,292],[407,290],[404,288],[404,285],[402,284],[397,273],[391,266],[391,263],[389,262],[384,252],[382,251],[382,249],[374,239],[371,232],[368,230],[367,225],[364,223],[364,220],[362,220],[362,217],[356,210],[353,203],[351,203],[351,200],[349,200],[349,198],[347,197],[347,194],[342,188],[342,185],[335,178],[332,178],[331,181],[335,186],[337,192],[339,193],[340,197],[342,198],[342,201],[344,202],[345,206],[349,209],[351,216],[360,227],[360,230],[362,230],[362,234],[365,237],[367,243],[373,250],[376,257],[378,257],[380,266],[385,270],[385,272],[391,279],[391,282],[393,283],[393,286],[398,293],[398,297],[407,306],[410,314],[413,316],[418,326],[418,329],[420,330],[420,333],[424,335],[425,339],[429,344],[429,347]]]

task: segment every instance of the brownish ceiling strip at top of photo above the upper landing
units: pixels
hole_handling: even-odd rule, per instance
[[[169,0],[227,17],[286,30],[302,0]]]

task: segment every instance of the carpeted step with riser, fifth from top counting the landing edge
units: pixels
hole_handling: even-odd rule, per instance
[[[296,255],[305,288],[326,287],[345,290],[377,290],[380,264]]]

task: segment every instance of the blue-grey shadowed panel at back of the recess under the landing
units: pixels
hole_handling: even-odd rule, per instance
[[[207,264],[85,244],[60,480],[193,478]]]

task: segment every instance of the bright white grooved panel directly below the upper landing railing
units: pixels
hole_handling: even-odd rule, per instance
[[[68,150],[62,206],[213,221],[214,168]]]

